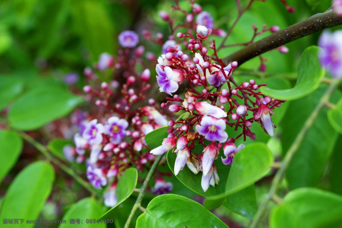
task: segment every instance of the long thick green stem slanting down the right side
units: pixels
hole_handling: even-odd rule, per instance
[[[306,119],[302,129],[297,134],[292,145],[290,146],[290,148],[286,152],[285,158],[281,162],[280,169],[278,170],[278,172],[276,173],[276,175],[272,181],[271,187],[268,189],[268,192],[265,194],[264,200],[260,204],[260,207],[259,207],[257,213],[255,213],[253,222],[249,226],[250,228],[255,228],[258,226],[258,223],[259,223],[261,217],[263,216],[263,213],[266,209],[266,206],[267,206],[269,200],[271,200],[272,197],[276,194],[277,189],[278,189],[278,185],[281,183],[282,179],[284,178],[285,171],[287,170],[295,152],[297,152],[298,148],[300,147],[300,145],[302,144],[302,142],[304,140],[305,135],[307,134],[307,132],[310,130],[311,126],[315,122],[319,112],[323,109],[325,104],[329,101],[332,93],[337,88],[337,86],[339,85],[340,82],[341,82],[340,79],[332,79],[331,80],[331,83],[330,83],[328,89],[323,94],[323,96],[320,98],[319,103],[316,105],[315,109],[312,111],[310,116]]]

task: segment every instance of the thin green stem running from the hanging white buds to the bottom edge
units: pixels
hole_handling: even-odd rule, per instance
[[[133,216],[134,216],[136,210],[137,210],[137,209],[140,209],[140,210],[142,209],[142,207],[141,207],[141,201],[142,201],[143,198],[144,198],[144,194],[145,194],[146,189],[147,189],[147,187],[148,187],[149,180],[151,179],[153,172],[156,170],[157,165],[159,164],[159,162],[160,162],[160,160],[162,159],[163,156],[164,156],[163,154],[162,154],[162,155],[158,155],[158,157],[156,158],[156,160],[153,162],[153,164],[152,164],[152,166],[151,166],[151,169],[148,171],[147,176],[146,176],[146,178],[145,178],[145,180],[144,180],[143,185],[142,185],[141,188],[140,188],[139,195],[138,195],[138,197],[136,198],[136,201],[135,201],[135,203],[134,203],[134,205],[133,205],[133,208],[132,208],[131,213],[130,213],[129,216],[128,216],[128,219],[127,219],[127,222],[126,222],[124,228],[128,228],[128,227],[129,227],[129,225],[131,224],[131,221],[132,221],[132,219],[133,219]],[[146,210],[146,209],[145,209],[145,210]]]

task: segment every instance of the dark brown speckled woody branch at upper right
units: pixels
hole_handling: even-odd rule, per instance
[[[229,64],[233,61],[237,61],[239,66],[241,66],[241,64],[247,62],[249,59],[278,48],[281,45],[337,25],[342,25],[342,18],[339,18],[336,13],[332,11],[332,8],[330,8],[324,13],[315,14],[302,22],[291,25],[290,27],[247,45],[245,48],[225,57],[223,62]]]

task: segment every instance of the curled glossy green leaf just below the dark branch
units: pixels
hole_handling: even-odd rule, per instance
[[[325,70],[320,68],[318,61],[318,50],[317,46],[310,46],[304,50],[299,62],[297,83],[294,88],[275,90],[262,86],[261,92],[280,100],[295,100],[315,91],[325,75]]]

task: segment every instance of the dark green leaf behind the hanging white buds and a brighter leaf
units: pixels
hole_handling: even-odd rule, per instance
[[[192,150],[193,153],[201,153],[203,150],[202,145],[196,145],[195,148]],[[167,153],[167,161],[171,171],[174,170],[174,163],[176,161],[176,154],[169,151]],[[206,192],[203,191],[201,187],[201,180],[202,180],[202,173],[194,174],[192,171],[189,170],[187,165],[185,165],[184,169],[177,174],[177,178],[182,182],[186,187],[193,190],[194,192],[205,196],[211,197],[216,196],[225,191],[225,184],[226,179],[228,178],[229,169],[231,165],[225,165],[222,163],[220,157],[214,161],[216,166],[218,175],[220,177],[220,182],[215,187],[209,186]],[[173,172],[174,174],[174,172]],[[238,202],[239,200],[244,199],[244,201],[240,201],[238,204],[234,204],[234,202]],[[218,203],[211,205],[210,203],[205,204],[207,209],[213,209],[218,207],[222,204],[222,206],[226,207],[227,209],[240,214],[242,216],[253,218],[254,213],[257,209],[257,200],[255,196],[255,189],[254,186],[250,186],[247,189],[242,191],[236,192],[235,194],[229,196],[227,198],[227,202],[224,202],[226,199],[225,197],[220,198]],[[206,201],[205,201],[206,202]]]

